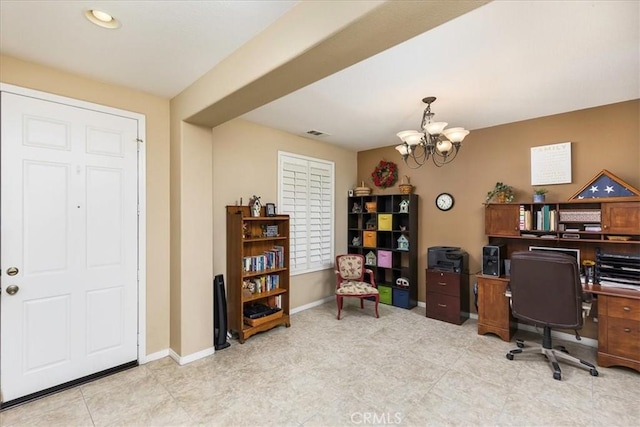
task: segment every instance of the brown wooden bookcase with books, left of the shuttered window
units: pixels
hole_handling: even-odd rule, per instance
[[[279,325],[289,317],[289,216],[252,217],[248,206],[227,206],[228,329],[240,343]],[[252,284],[252,286],[250,286]],[[253,289],[250,289],[250,288]],[[245,319],[250,304],[282,310],[259,319]]]

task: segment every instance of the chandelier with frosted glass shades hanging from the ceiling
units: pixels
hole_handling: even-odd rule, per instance
[[[422,131],[404,130],[397,133],[402,144],[398,145],[396,150],[400,152],[402,160],[411,169],[419,168],[429,160],[429,157],[438,167],[453,161],[462,146],[462,140],[469,135],[469,131],[464,128],[445,130],[448,123],[431,122],[431,118],[434,116],[434,113],[431,112],[431,104],[435,100],[435,96],[428,96],[422,100],[427,104],[427,108],[422,114],[422,124],[420,125]]]

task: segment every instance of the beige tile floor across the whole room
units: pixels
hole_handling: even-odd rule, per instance
[[[164,358],[0,413],[2,426],[638,426],[640,374],[509,361],[492,335],[428,319],[424,308],[355,301],[185,366]],[[530,332],[520,337],[532,338]],[[595,363],[596,351],[560,342]]]

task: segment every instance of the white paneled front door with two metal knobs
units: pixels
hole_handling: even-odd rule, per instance
[[[1,97],[8,402],[138,358],[138,121]]]

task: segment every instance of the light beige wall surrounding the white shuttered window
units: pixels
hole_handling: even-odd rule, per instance
[[[252,195],[278,203],[278,150],[335,162],[335,248],[347,248],[347,190],[356,182],[356,153],[241,119],[213,129],[213,267],[226,274],[225,206]],[[291,277],[291,308],[333,295],[333,270]]]

